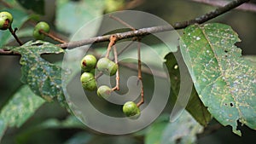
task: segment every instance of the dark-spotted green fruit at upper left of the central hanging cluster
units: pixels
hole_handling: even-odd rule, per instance
[[[85,55],[81,60],[81,68],[84,72],[90,72],[96,67],[96,57],[94,55]]]

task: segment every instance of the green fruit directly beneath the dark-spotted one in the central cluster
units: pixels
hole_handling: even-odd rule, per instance
[[[85,90],[93,91],[97,89],[96,79],[94,75],[90,72],[84,72],[81,75],[80,81],[82,83],[82,87]]]

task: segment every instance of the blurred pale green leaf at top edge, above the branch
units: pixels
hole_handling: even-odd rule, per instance
[[[82,26],[90,22],[90,20],[94,20],[97,16],[102,14],[104,1],[80,0],[79,2],[74,2],[68,0],[57,0],[56,5],[57,28],[62,32],[67,32],[73,35]]]

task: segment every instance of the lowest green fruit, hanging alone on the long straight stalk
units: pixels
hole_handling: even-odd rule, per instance
[[[131,118],[138,118],[141,114],[139,107],[137,107],[136,103],[133,101],[125,102],[125,105],[123,106],[123,112],[125,113],[126,117]]]

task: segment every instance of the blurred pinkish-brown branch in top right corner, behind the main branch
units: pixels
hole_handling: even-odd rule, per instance
[[[212,6],[218,6],[223,7],[225,4],[229,3],[228,1],[224,0],[189,0],[196,3],[205,3]],[[253,3],[244,3],[241,6],[237,7],[238,10],[244,10],[244,11],[250,11],[250,12],[256,12],[256,4]]]

